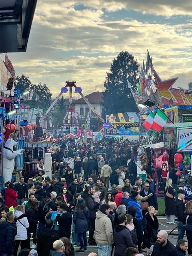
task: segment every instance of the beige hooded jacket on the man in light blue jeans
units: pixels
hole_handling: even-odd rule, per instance
[[[113,228],[111,220],[101,211],[96,213],[95,240],[98,244],[113,244]]]

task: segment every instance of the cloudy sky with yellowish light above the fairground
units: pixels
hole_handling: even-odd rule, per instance
[[[192,82],[191,0],[38,0],[26,53],[9,53],[16,75],[57,96],[65,81],[84,95],[102,91],[119,52],[138,63],[147,49],[162,80]],[[1,55],[4,58],[4,55]]]

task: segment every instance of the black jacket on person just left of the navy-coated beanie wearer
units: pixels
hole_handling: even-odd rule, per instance
[[[56,223],[57,226],[59,226],[59,237],[67,237],[70,240],[72,223],[71,213],[65,212],[62,216],[58,214],[56,217]]]

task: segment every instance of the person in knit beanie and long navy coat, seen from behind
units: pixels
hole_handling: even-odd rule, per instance
[[[75,224],[75,233],[78,234],[80,249],[77,252],[84,252],[87,250],[87,231],[89,230],[89,210],[86,207],[83,198],[77,199],[77,205],[73,214],[73,222]]]

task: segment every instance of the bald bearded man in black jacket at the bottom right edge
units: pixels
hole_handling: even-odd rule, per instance
[[[161,230],[157,234],[157,241],[154,244],[151,256],[177,256],[176,247],[169,242],[168,234],[165,230]]]

